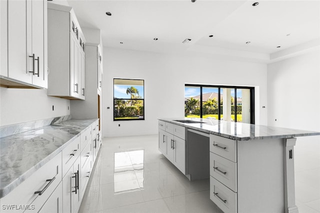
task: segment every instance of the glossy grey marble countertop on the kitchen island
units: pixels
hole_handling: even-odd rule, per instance
[[[234,140],[254,140],[264,138],[290,138],[320,135],[317,131],[308,131],[275,126],[255,125],[207,118],[158,118],[166,122],[185,126],[190,129],[227,137]],[[175,120],[193,120],[201,123],[183,123]]]

